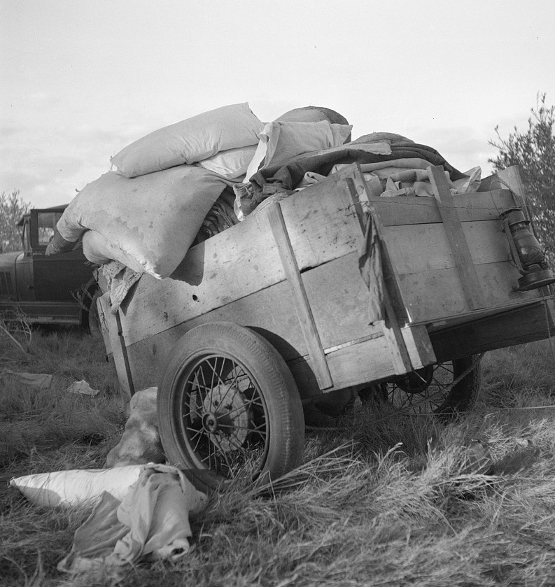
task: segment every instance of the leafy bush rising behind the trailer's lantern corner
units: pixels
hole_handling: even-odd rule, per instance
[[[498,141],[489,143],[499,154],[488,161],[496,171],[519,165],[536,233],[555,268],[555,106],[546,106],[545,94],[538,94],[531,113],[528,129],[519,132],[514,127],[508,139],[502,139],[496,127]]]

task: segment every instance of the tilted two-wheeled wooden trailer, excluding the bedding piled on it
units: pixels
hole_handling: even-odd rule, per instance
[[[122,395],[158,387],[167,460],[197,486],[297,466],[328,397],[471,409],[484,351],[554,333],[515,169],[452,195],[430,166],[435,197],[372,197],[363,167],[193,246],[170,278],[143,275],[119,309],[102,285]]]

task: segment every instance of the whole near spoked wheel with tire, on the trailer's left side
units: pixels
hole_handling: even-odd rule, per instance
[[[297,386],[276,349],[234,323],[190,330],[158,388],[167,461],[200,490],[239,474],[272,479],[300,465],[304,418]]]

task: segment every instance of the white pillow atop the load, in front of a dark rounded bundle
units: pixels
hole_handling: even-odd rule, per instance
[[[291,157],[339,147],[351,134],[351,125],[332,125],[320,122],[269,122],[260,133],[260,141],[253,160],[246,170],[251,178],[261,167],[285,163]]]

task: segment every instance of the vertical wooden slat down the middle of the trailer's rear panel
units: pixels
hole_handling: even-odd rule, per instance
[[[476,270],[472,263],[468,243],[458,220],[458,213],[454,208],[453,196],[449,190],[449,184],[442,167],[431,165],[428,167],[430,182],[432,183],[437,208],[440,211],[442,221],[447,233],[447,240],[454,255],[458,276],[465,292],[466,302],[472,310],[484,307],[482,287],[477,279]],[[426,250],[422,253],[425,255]]]

